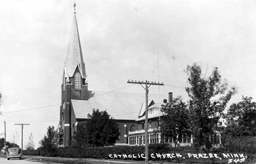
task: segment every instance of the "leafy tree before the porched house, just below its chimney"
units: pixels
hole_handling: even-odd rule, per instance
[[[168,138],[174,139],[175,147],[182,133],[190,132],[190,118],[187,105],[177,97],[172,103],[162,107],[164,115],[161,118],[160,133]]]

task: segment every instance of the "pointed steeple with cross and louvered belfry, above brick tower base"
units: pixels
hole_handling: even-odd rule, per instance
[[[70,91],[67,96],[71,99],[88,99],[88,84],[86,83],[85,64],[78,32],[75,3],[62,86],[63,95],[69,94]]]

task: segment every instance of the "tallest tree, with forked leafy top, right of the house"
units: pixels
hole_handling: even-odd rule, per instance
[[[202,75],[201,67],[196,63],[188,66],[186,72],[190,84],[186,91],[190,98],[189,112],[194,142],[199,147],[210,149],[210,138],[218,131],[221,125],[219,119],[236,89],[228,89],[228,84],[222,81],[218,68],[215,68],[208,78]]]

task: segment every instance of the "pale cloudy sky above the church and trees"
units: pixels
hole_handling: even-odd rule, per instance
[[[33,0],[0,5],[0,135],[36,148],[48,126],[59,125],[61,84],[73,4],[89,90],[145,93],[127,80],[160,81],[149,93],[188,100],[184,72],[194,62],[203,74],[218,67],[229,87],[256,96],[256,2]],[[113,116],[114,117],[114,116]],[[0,136],[1,138],[3,136]]]

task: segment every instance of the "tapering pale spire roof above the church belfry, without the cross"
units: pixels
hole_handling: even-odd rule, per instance
[[[83,78],[86,77],[85,73],[85,66],[83,60],[83,53],[80,44],[79,32],[78,32],[78,25],[77,25],[77,17],[74,13],[73,24],[71,35],[69,39],[68,51],[67,51],[67,58],[65,64],[65,77],[69,75],[69,77],[73,77],[75,68],[79,67],[81,71],[81,75]]]

